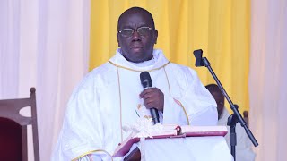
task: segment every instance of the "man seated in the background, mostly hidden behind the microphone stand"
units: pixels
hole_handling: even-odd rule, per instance
[[[218,125],[227,126],[227,119],[230,116],[227,109],[224,107],[224,96],[222,91],[218,88],[216,84],[209,84],[206,89],[210,91],[213,95],[218,111]],[[230,128],[229,132],[225,135],[225,140],[228,145],[230,145]],[[251,141],[248,139],[248,135],[245,130],[241,127],[240,123],[236,124],[236,136],[237,136],[237,146],[236,146],[236,160],[239,161],[252,161],[255,159],[255,153],[251,149]]]

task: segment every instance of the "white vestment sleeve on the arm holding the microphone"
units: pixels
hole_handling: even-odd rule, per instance
[[[180,95],[165,95],[163,123],[216,125],[216,102],[200,82],[196,72],[190,68],[182,68],[174,77],[180,80],[177,89]]]

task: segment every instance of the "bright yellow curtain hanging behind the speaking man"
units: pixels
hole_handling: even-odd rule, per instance
[[[118,16],[132,6],[152,13],[155,47],[171,62],[194,68],[204,85],[214,83],[207,68],[195,68],[193,51],[202,48],[233,103],[248,110],[249,0],[91,0],[90,70],[115,54]]]

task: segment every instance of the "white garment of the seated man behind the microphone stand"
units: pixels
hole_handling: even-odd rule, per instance
[[[227,126],[227,119],[230,116],[227,109],[224,107],[222,111],[222,116],[218,120],[218,125],[221,126]],[[235,147],[236,149],[236,160],[239,161],[252,161],[255,160],[255,153],[252,151],[251,147],[252,142],[249,140],[248,135],[246,134],[246,131],[243,127],[241,127],[240,123],[236,124],[236,140],[237,145]],[[228,133],[225,135],[225,140],[228,143],[230,147],[230,127],[228,126]]]

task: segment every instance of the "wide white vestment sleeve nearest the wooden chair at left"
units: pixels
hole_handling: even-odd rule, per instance
[[[70,97],[65,120],[52,160],[77,160],[89,154],[103,160],[109,153],[103,149],[103,125],[98,93],[92,83],[80,85]]]

